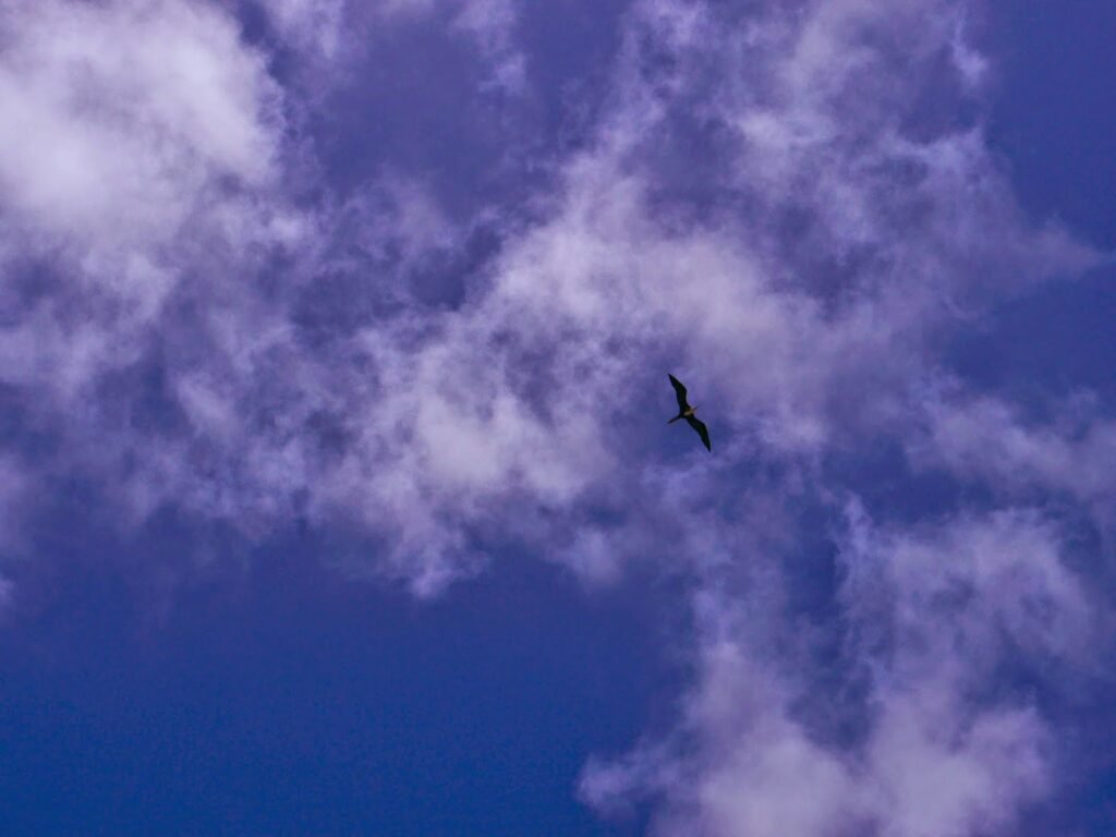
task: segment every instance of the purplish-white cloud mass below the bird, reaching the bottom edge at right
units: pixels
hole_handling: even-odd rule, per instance
[[[854,504],[844,537],[831,629],[845,636],[837,687],[866,684],[859,732],[849,739],[804,710],[839,703],[814,693],[835,681],[800,655],[779,660],[764,608],[706,597],[679,728],[618,762],[590,762],[580,788],[590,805],[661,798],[662,835],[961,837],[1010,833],[1052,791],[1055,732],[993,671],[1014,643],[1032,662],[1091,645],[1090,605],[1056,528],[1011,511],[915,535],[879,530]]]

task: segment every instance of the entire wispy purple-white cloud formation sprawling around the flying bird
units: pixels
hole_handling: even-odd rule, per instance
[[[531,95],[507,3],[263,8],[327,75],[373,17],[441,12]],[[941,349],[1097,257],[1018,208],[966,3],[635,3],[589,138],[509,136],[545,187],[464,210],[391,161],[331,180],[324,99],[222,8],[0,9],[3,384],[56,442],[17,437],[7,484],[79,474],[122,526],[300,518],[419,595],[509,546],[589,584],[682,575],[676,725],[580,786],[651,800],[656,834],[1009,834],[1057,792],[1058,730],[1002,672],[1091,676],[1109,605],[1068,527],[1110,537],[1113,420],[1024,420]],[[667,369],[715,459],[647,420]],[[867,446],[984,493],[892,519],[841,465]],[[801,575],[819,541],[828,587]]]

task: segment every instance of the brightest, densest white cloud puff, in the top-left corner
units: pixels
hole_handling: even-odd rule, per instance
[[[278,92],[228,18],[170,0],[0,9],[2,199],[32,230],[164,242],[221,179],[273,176]]]

